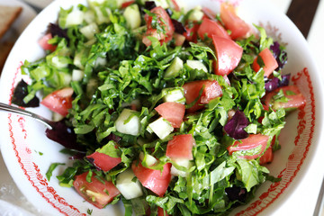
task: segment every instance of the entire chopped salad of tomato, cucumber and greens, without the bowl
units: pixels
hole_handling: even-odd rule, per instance
[[[24,62],[32,82],[15,102],[37,106],[41,93],[73,129],[61,151],[73,166],[56,177],[95,207],[223,215],[280,181],[265,165],[305,98],[281,73],[284,46],[233,5],[88,0],[61,8],[39,43],[46,56]]]

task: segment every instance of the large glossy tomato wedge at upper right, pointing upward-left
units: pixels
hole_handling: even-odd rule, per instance
[[[242,58],[243,48],[230,39],[212,35],[212,42],[215,46],[217,63],[214,64],[215,74],[229,75]]]

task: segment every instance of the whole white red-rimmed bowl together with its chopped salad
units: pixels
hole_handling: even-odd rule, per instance
[[[50,215],[275,212],[320,141],[306,41],[256,0],[54,1],[0,87],[55,121],[1,116],[6,166]]]

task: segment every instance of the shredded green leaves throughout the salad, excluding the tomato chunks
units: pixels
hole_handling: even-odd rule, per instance
[[[145,26],[143,4],[141,8],[141,25]],[[126,213],[144,215],[150,207],[151,215],[157,215],[157,207],[161,207],[172,215],[211,215],[226,214],[233,207],[249,202],[257,186],[266,180],[278,180],[269,175],[265,166],[260,166],[257,159],[247,160],[239,156],[255,155],[259,148],[237,151],[229,156],[227,148],[236,139],[224,132],[229,120],[229,112],[240,111],[248,120],[245,131],[248,134],[261,133],[269,136],[267,146],[275,143],[274,150],[280,148],[278,135],[284,128],[284,109],[274,112],[265,110],[262,98],[266,94],[264,71],[255,72],[251,65],[261,49],[270,48],[274,44],[266,36],[266,31],[258,28],[260,37],[251,35],[237,43],[244,49],[238,67],[229,75],[229,82],[223,76],[215,75],[212,61],[215,54],[211,40],[198,40],[197,43],[184,42],[183,46],[175,46],[175,41],[161,44],[151,38],[152,45],[146,47],[141,42],[144,28],[130,30],[123,10],[114,1],[103,4],[90,2],[89,6],[77,5],[82,12],[99,8],[107,22],[97,22],[99,31],[93,40],[88,40],[80,28],[81,25],[67,26],[68,14],[73,10],[61,9],[58,24],[51,23],[49,31],[57,49],[49,52],[45,58],[35,62],[25,61],[23,73],[31,77],[28,95],[23,102],[28,103],[37,92],[44,96],[63,87],[71,86],[74,90],[73,107],[66,117],[67,124],[73,126],[77,143],[86,148],[85,155],[90,155],[98,148],[104,147],[104,153],[113,157],[121,157],[121,163],[108,172],[98,170],[90,161],[78,157],[80,153],[65,149],[64,152],[76,154],[74,165],[67,167],[58,175],[61,185],[73,186],[76,175],[89,172],[91,175],[115,183],[116,176],[139,159],[139,152],[157,158],[158,163],[149,166],[161,169],[166,163],[174,163],[166,157],[167,141],[176,134],[192,134],[196,145],[193,147],[193,166],[190,169],[178,167],[186,171],[186,176],[175,176],[165,196],[158,197],[143,187],[144,196],[126,200],[119,195],[112,203],[121,200]],[[110,8],[107,13],[106,8]],[[172,12],[171,18],[185,23],[188,13]],[[280,48],[284,49],[284,48]],[[164,78],[166,68],[172,60],[181,58],[199,60],[208,72],[193,69],[184,64],[184,68],[175,77]],[[78,60],[76,60],[78,59]],[[81,80],[71,81],[72,71],[82,70]],[[280,70],[275,74],[281,80]],[[148,123],[157,119],[154,108],[162,103],[167,88],[181,87],[194,80],[217,80],[222,89],[222,96],[206,104],[205,109],[188,114],[179,130],[175,130],[166,139],[158,139],[148,132]],[[139,111],[139,136],[131,136],[118,132],[114,121],[125,107],[136,106]],[[186,108],[193,104],[186,104]],[[238,126],[239,127],[239,126]],[[238,128],[234,125],[233,128]],[[233,129],[233,133],[236,131]],[[274,139],[274,140],[272,140]],[[118,148],[114,148],[118,143]],[[78,158],[77,158],[78,157]],[[146,165],[146,157],[142,161]],[[58,166],[54,164],[51,171]]]

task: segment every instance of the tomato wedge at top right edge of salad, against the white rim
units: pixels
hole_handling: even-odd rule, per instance
[[[225,28],[231,31],[232,40],[245,38],[251,31],[250,26],[238,17],[234,6],[227,2],[220,4],[220,19],[225,24]]]

